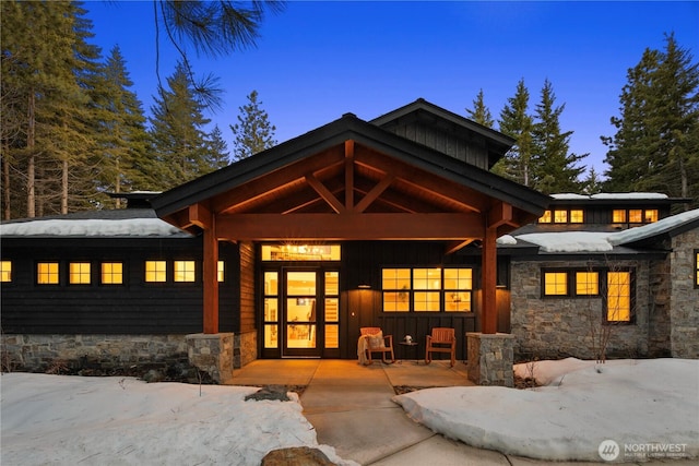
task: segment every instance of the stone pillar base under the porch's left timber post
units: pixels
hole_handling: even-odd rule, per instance
[[[233,333],[187,335],[189,363],[220,384],[233,380]]]

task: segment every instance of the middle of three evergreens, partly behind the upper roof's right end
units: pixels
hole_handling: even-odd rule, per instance
[[[508,98],[500,111],[500,132],[514,139],[514,145],[498,162],[493,171],[525,187],[533,186],[532,170],[532,117],[529,115],[529,89],[524,80],[517,84],[514,96]]]

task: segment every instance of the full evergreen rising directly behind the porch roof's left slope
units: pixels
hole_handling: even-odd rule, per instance
[[[167,79],[169,89],[158,88],[151,108],[151,138],[154,156],[144,170],[150,189],[167,190],[216,169],[210,165],[209,134],[204,128],[203,103],[196,98],[188,69],[178,63]]]

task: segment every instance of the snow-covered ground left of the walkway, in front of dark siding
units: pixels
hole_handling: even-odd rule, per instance
[[[292,402],[245,402],[254,387],[131,378],[7,373],[3,466],[259,465],[286,446],[318,446]],[[319,446],[331,461],[334,449]]]

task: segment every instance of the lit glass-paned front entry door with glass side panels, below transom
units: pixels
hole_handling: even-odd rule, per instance
[[[321,357],[340,347],[339,276],[321,268],[264,272],[264,353]]]

